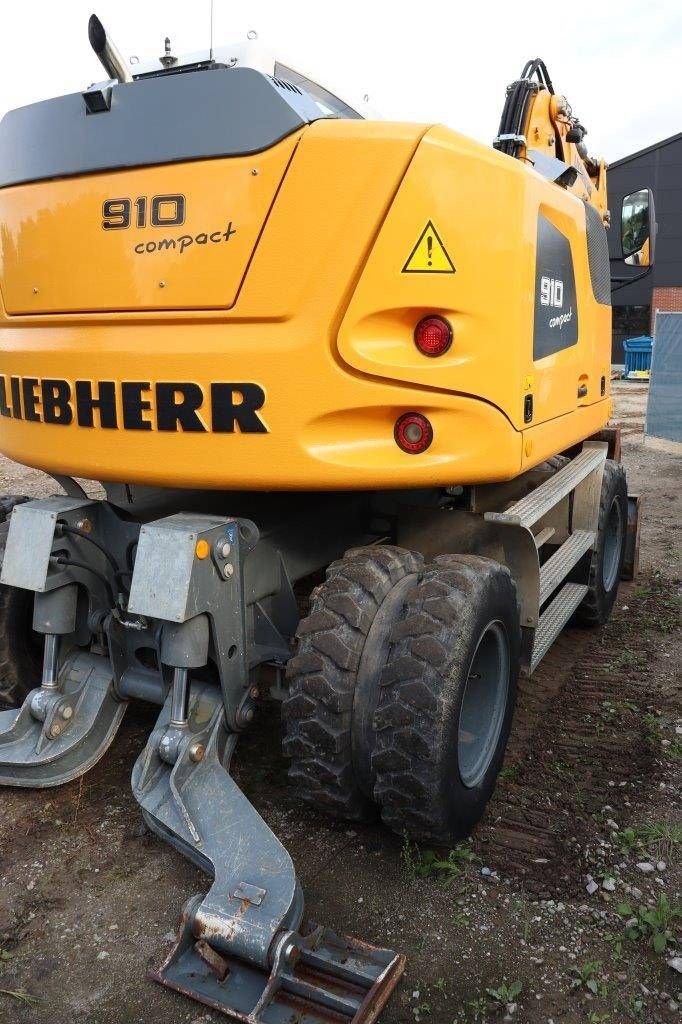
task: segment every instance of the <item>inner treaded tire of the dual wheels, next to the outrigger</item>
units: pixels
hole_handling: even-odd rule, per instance
[[[379,677],[402,593],[422,567],[420,555],[401,548],[354,548],[329,566],[299,625],[282,708],[284,753],[300,798],[337,817],[376,816],[371,753]]]

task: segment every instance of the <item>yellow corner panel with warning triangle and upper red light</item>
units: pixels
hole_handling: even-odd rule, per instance
[[[540,212],[570,242],[580,340],[534,362]],[[454,274],[401,272],[429,220],[455,264]],[[450,351],[438,358],[422,355],[413,341],[415,324],[432,311],[446,316],[455,333]],[[581,383],[588,386],[582,404],[602,397],[609,336],[610,309],[592,296],[583,203],[518,161],[445,128],[432,129],[415,155],[350,302],[339,334],[344,359],[364,373],[483,398],[522,430],[528,391],[534,422],[573,411]]]

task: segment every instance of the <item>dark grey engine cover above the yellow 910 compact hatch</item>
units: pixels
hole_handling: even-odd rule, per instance
[[[80,92],[0,121],[0,187],[97,171],[260,153],[325,115],[250,68],[214,68],[112,88],[91,114]]]

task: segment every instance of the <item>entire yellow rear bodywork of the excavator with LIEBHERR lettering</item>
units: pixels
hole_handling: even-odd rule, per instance
[[[237,234],[213,251],[135,253],[135,228],[102,231],[101,207],[106,196],[141,194],[183,194],[187,233],[215,211]],[[580,337],[534,362],[539,211],[570,244]],[[402,272],[428,221],[454,273]],[[0,222],[0,449],[48,472],[253,489],[485,482],[608,418],[610,310],[593,297],[583,203],[442,128],[319,121],[248,159],[6,188]],[[31,284],[38,273],[42,287]],[[439,358],[414,345],[427,312],[454,326]],[[97,409],[79,425],[77,381],[94,397],[112,383],[115,425],[102,426]],[[236,403],[245,382],[262,391],[262,430],[242,432],[239,420],[233,432],[213,429],[216,382],[232,386]],[[199,386],[191,429],[162,426],[159,384],[166,396]],[[434,431],[419,456],[393,438],[412,411]]]

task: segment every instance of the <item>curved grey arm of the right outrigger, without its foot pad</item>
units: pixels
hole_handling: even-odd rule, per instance
[[[170,721],[169,697],[133,769],[133,794],[150,827],[215,876],[197,929],[207,935],[222,930],[231,936],[233,952],[264,965],[283,924],[300,922],[302,902],[291,857],[223,767],[237,736],[227,733],[217,688],[193,689],[186,736],[174,764],[159,753]],[[261,903],[247,905],[233,895],[249,885],[267,894]]]

